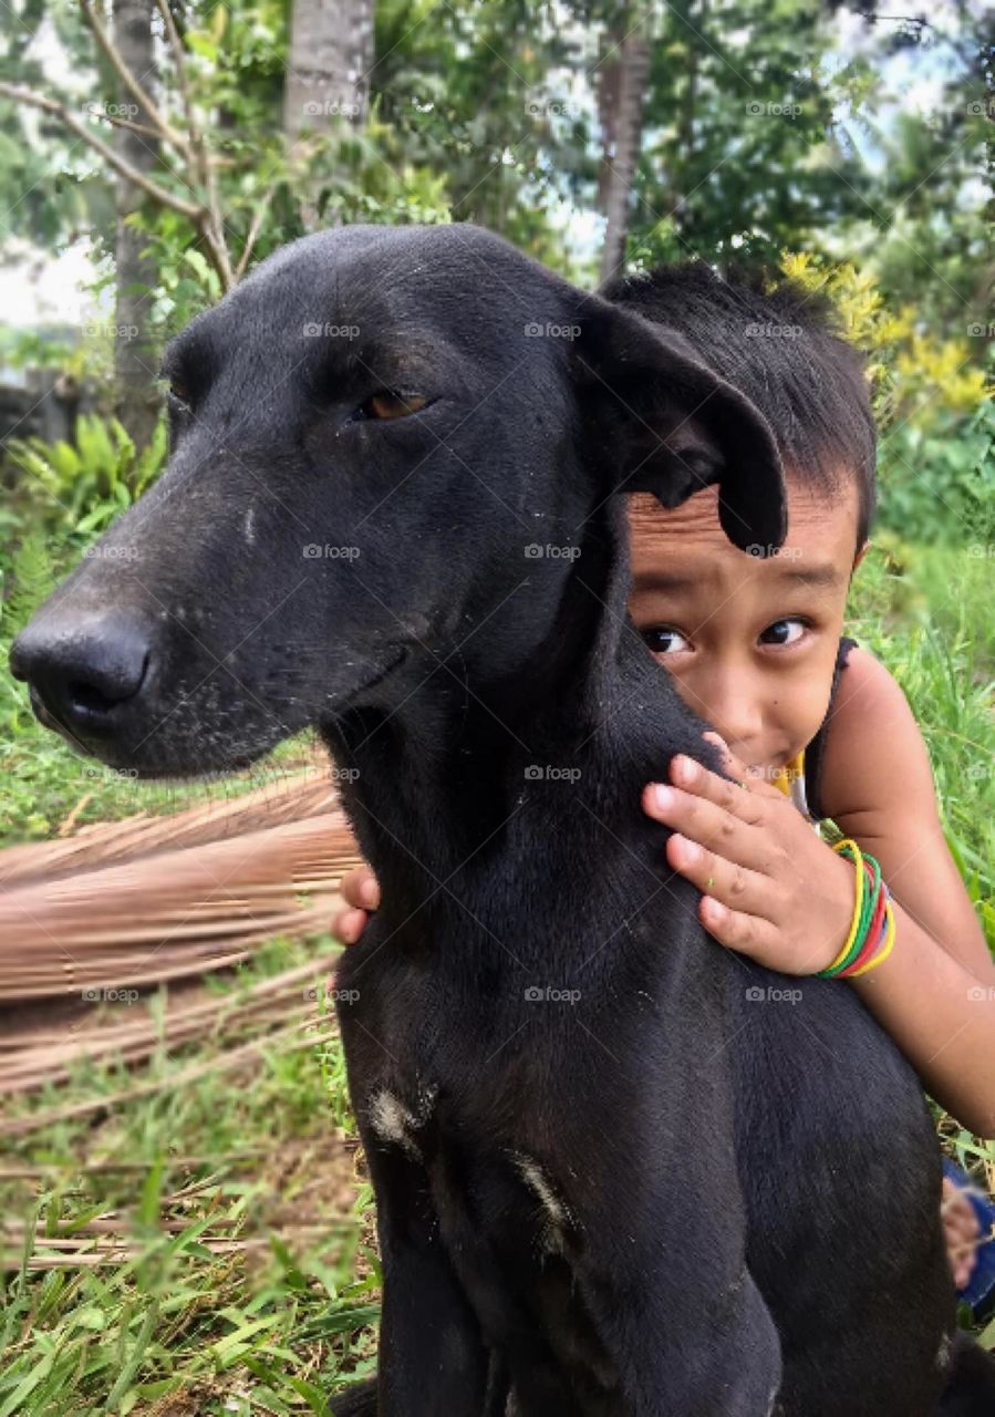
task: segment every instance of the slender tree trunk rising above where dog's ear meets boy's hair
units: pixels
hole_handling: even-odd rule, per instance
[[[598,118],[601,170],[598,197],[608,217],[601,251],[601,282],[615,276],[625,262],[632,184],[642,140],[642,102],[649,77],[646,23],[626,17],[621,33],[607,37],[608,54],[598,67]]]

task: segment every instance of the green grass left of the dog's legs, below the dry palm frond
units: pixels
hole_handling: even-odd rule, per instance
[[[327,937],[275,942],[240,981],[258,982],[316,951],[332,961],[332,949]],[[240,981],[217,988],[230,993]],[[137,1076],[169,1080],[213,1053],[211,1044],[160,1050],[130,1074],[81,1068],[65,1087],[9,1102],[4,1115],[111,1095]],[[7,1254],[13,1243],[27,1258],[35,1221],[48,1237],[71,1236],[111,1210],[129,1217],[135,1254],[101,1268],[21,1265],[0,1277],[3,1417],[146,1413],[170,1394],[176,1404],[162,1410],[174,1417],[323,1413],[332,1387],[374,1362],[380,1274],[370,1189],[352,1182],[343,1144],[352,1132],[340,1049],[322,1044],[274,1046],[248,1076],[218,1071],[103,1117],[6,1139],[6,1169],[45,1172],[0,1179],[0,1213],[27,1223],[23,1238],[4,1236]],[[203,1159],[181,1165],[189,1156]],[[132,1169],[82,1169],[95,1162]],[[343,1223],[347,1209],[353,1219]],[[166,1229],[167,1220],[179,1227]],[[204,1230],[218,1223],[257,1248],[211,1254]],[[45,1241],[35,1248],[45,1253]]]

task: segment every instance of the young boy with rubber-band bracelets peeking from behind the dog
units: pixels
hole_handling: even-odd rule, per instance
[[[828,302],[706,265],[618,282],[747,394],[778,439],[788,536],[767,558],[734,547],[706,487],[665,512],[629,500],[629,612],[685,703],[717,730],[729,782],[678,757],[643,809],[673,828],[670,866],[702,891],[723,947],[785,973],[826,968],[848,938],[853,866],[812,830],[832,818],[873,853],[892,891],[896,947],[841,979],[887,1029],[928,1093],[979,1136],[995,1136],[995,965],[947,850],[930,762],[884,665],[842,638],[850,577],[875,509],[875,429],[862,361]],[[713,735],[713,737],[717,737]],[[741,784],[746,791],[741,791]],[[343,881],[335,921],[354,942],[378,903],[369,869]],[[981,1207],[944,1180],[954,1281],[978,1268]]]

